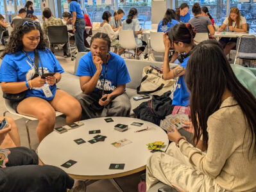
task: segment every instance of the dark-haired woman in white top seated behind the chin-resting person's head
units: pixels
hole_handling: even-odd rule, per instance
[[[111,47],[115,47],[114,53],[117,53],[117,47],[119,46],[119,40],[117,40],[117,36],[119,33],[119,30],[114,31],[110,24],[108,23],[111,19],[111,13],[106,11],[102,15],[103,22],[99,25],[99,31],[101,33],[106,33],[108,37],[111,40]],[[119,46],[120,47],[120,46]],[[118,54],[121,54],[124,51],[124,49],[121,47],[121,49],[118,50]]]

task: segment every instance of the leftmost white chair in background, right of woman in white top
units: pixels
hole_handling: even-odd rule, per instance
[[[135,42],[135,37],[133,30],[120,30],[119,31],[119,45],[123,47],[124,49],[136,49],[136,55],[137,55],[137,50],[141,46],[137,46]],[[117,48],[119,49],[119,47]],[[129,58],[130,58],[130,51],[129,53]]]

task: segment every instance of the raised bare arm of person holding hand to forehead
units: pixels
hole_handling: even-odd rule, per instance
[[[167,32],[164,33],[163,38],[164,38],[164,47],[166,47],[164,51],[163,79],[169,80],[169,79],[174,79],[175,77],[178,77],[178,76],[182,76],[183,74],[185,74],[185,68],[183,68],[182,66],[178,66],[173,70],[170,70],[169,49],[171,47],[171,42],[169,40]]]

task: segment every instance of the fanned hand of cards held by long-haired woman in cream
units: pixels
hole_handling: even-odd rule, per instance
[[[185,127],[186,125],[183,122],[189,122],[189,115],[187,114],[175,114],[175,115],[167,115],[164,120],[160,121],[160,127],[169,131],[170,127],[176,127],[180,129]]]

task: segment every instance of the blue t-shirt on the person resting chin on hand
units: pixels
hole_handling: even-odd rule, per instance
[[[106,80],[104,84],[104,90],[112,92],[117,88],[117,85],[126,84],[131,81],[128,69],[124,62],[124,59],[121,58],[118,54],[114,52],[110,53],[110,59],[108,60],[108,70],[106,75]],[[105,77],[106,64],[102,65],[101,74],[99,77],[98,83],[94,90],[102,90]],[[83,57],[81,57],[78,63],[78,70],[76,71],[76,76],[90,76],[93,77],[96,73],[96,67],[92,61],[92,53],[88,52]]]

